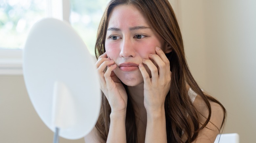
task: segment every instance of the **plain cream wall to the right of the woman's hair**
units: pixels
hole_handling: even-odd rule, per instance
[[[224,133],[255,142],[256,1],[179,1],[192,74],[227,109]]]

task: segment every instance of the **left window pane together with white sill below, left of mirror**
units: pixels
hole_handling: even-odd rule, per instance
[[[0,0],[0,74],[22,74],[22,48],[29,29],[48,16],[46,0]]]

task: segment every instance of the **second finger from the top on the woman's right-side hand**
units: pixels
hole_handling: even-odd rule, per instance
[[[164,81],[165,79],[165,72],[166,72],[166,64],[163,62],[163,60],[160,58],[160,56],[156,55],[156,54],[150,54],[149,55],[150,59],[153,59],[157,66],[158,66],[158,72],[159,72],[159,79],[161,81]],[[168,71],[167,71],[168,72]]]

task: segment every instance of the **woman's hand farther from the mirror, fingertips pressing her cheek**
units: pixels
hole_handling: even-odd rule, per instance
[[[151,71],[151,78],[142,64],[139,64],[139,70],[144,80],[144,106],[147,114],[154,115],[164,110],[165,97],[170,90],[171,71],[170,62],[159,47],[156,47],[156,54],[150,54],[149,58],[158,66],[150,59],[143,59],[142,63]]]

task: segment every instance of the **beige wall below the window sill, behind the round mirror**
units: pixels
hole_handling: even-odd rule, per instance
[[[23,76],[0,76],[0,143],[51,143],[53,132],[36,114]],[[60,138],[60,143],[84,143]]]

